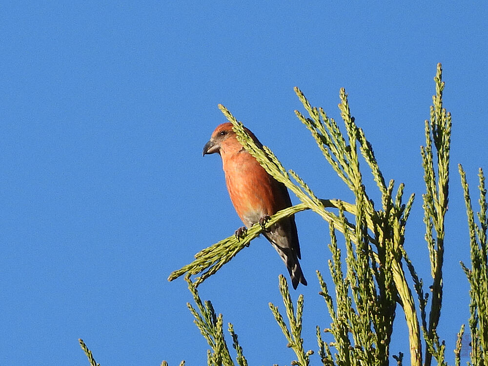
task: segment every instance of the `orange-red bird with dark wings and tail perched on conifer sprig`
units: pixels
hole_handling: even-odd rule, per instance
[[[254,134],[247,133],[258,146],[263,146]],[[249,154],[232,130],[232,123],[223,123],[212,133],[203,146],[205,154],[219,153],[225,173],[225,183],[237,214],[244,225],[264,224],[269,216],[291,206],[290,195],[283,183],[271,177],[258,161]],[[236,235],[242,232],[241,228]],[[290,273],[293,288],[306,280],[298,262],[301,259],[297,225],[294,216],[282,219],[263,235],[278,251]]]

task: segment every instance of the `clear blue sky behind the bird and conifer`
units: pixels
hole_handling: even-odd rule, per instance
[[[416,193],[405,245],[427,290],[419,146],[437,62],[453,115],[438,328],[452,363],[468,320],[457,164],[474,194],[487,168],[486,3],[7,1],[0,13],[1,364],[88,365],[78,338],[103,366],[206,363],[186,284],[166,278],[242,225],[219,157],[202,158],[225,120],[217,104],[317,196],[351,200],[295,117],[294,86],[337,121],[345,87],[385,178]],[[292,295],[305,295],[305,349],[316,350],[315,326],[330,319],[315,270],[330,283],[330,239],[311,212],[296,221],[308,286]],[[250,365],[294,359],[268,308],[283,309],[284,272],[259,238],[200,286]],[[407,355],[406,340],[398,307],[391,352]]]

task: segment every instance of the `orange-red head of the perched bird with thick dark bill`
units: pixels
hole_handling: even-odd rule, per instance
[[[245,128],[251,138],[261,145],[254,134]],[[207,154],[219,153],[222,155],[231,155],[243,150],[243,146],[237,141],[236,133],[232,130],[232,123],[226,122],[219,124],[212,133],[210,140],[203,146],[203,156]]]

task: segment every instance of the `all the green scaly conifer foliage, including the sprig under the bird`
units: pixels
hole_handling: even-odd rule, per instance
[[[270,175],[285,184],[301,203],[273,215],[264,227],[255,224],[241,237],[231,235],[203,249],[195,255],[193,262],[170,274],[169,281],[185,275],[188,282],[195,303],[195,306],[188,304],[188,308],[208,343],[208,365],[247,366],[247,361],[233,325],[229,323],[228,331],[236,352],[234,363],[224,337],[223,316],[215,313],[210,301],[201,300],[197,286],[215,274],[239,251],[249,246],[264,230],[284,217],[305,209],[310,209],[322,217],[329,224],[330,232],[328,248],[331,259],[328,265],[334,284],[333,291],[328,289],[322,274],[317,271],[320,295],[325,300],[331,318],[330,325],[324,331],[321,331],[321,327],[316,327],[316,354],[322,365],[389,365],[389,346],[397,305],[402,308],[407,323],[410,364],[430,366],[434,358],[438,365],[447,365],[445,345],[437,334],[437,325],[443,300],[442,266],[446,231],[444,220],[448,203],[451,116],[443,107],[444,82],[440,64],[437,66],[434,81],[436,93],[430,108],[430,120],[425,123],[426,144],[421,148],[426,184],[426,193],[422,196],[426,224],[425,239],[432,277],[430,302],[428,294],[423,289],[423,280],[417,274],[404,248],[406,224],[414,195],[410,195],[407,202],[403,203],[404,184],[399,184],[396,190],[393,180],[386,184],[371,144],[351,116],[344,89],[340,91],[339,104],[344,133],[339,124],[327,117],[322,108],[312,107],[298,88],[295,88],[295,92],[308,117],[299,111],[295,113],[310,131],[327,162],[353,193],[354,203],[317,198],[293,170],[286,170],[269,148],[257,146],[247,135],[242,122],[238,122],[224,106],[219,105],[229,122],[233,124],[238,140],[244,148]],[[365,169],[372,174],[377,192],[369,187],[366,189],[363,182]],[[488,205],[485,178],[480,169],[480,211],[477,214],[479,224],[476,224],[466,175],[461,166],[459,171],[465,189],[471,245],[472,268],[468,269],[462,264],[471,286],[471,365],[481,366],[488,361]],[[377,196],[378,193],[381,202],[376,208],[370,197]],[[341,233],[340,238],[337,233]],[[407,266],[413,286],[407,281],[403,264]],[[192,276],[194,282],[190,280]],[[295,311],[283,276],[279,278],[279,288],[285,305],[287,323],[277,306],[270,303],[269,307],[285,335],[286,346],[292,348],[296,354],[297,359],[291,361],[291,365],[308,366],[314,352],[305,351],[302,338],[304,297],[299,296]],[[456,365],[460,365],[463,335],[464,325],[461,326],[454,349]],[[327,343],[323,336],[332,337],[333,341]],[[422,339],[425,341],[424,353]],[[97,366],[91,352],[81,340],[80,344],[91,365]],[[402,352],[392,357],[397,365],[403,364]],[[167,365],[165,361],[163,365]],[[184,361],[180,365],[183,366]]]

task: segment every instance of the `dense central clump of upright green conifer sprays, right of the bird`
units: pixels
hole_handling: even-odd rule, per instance
[[[332,324],[337,365],[387,365],[389,343],[395,317],[396,299],[400,297],[411,330],[412,359],[418,358],[420,338],[417,336],[415,307],[400,261],[403,256],[405,225],[413,203],[413,195],[402,204],[403,184],[393,197],[394,182],[386,186],[371,144],[350,115],[347,95],[341,90],[339,109],[346,127],[346,136],[322,108],[312,107],[304,94],[295,89],[310,118],[295,111],[310,130],[327,161],[336,170],[356,197],[354,212],[340,207],[335,221],[329,221],[332,260],[329,268],[335,285],[336,305],[318,273]],[[359,144],[357,143],[359,142]],[[358,149],[366,161],[382,197],[379,210],[366,193],[360,170]],[[344,211],[355,215],[350,224]],[[344,234],[346,272],[342,269],[341,250],[335,229]]]

